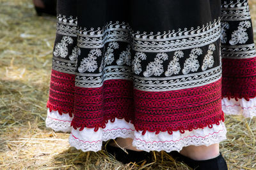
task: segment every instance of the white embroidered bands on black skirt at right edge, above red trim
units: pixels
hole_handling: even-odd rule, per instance
[[[244,44],[249,36],[246,29],[251,27],[251,16],[248,0],[223,1],[221,4],[221,57],[225,59],[250,59],[255,57],[254,43]],[[239,21],[236,31],[232,32],[231,39],[227,41],[225,31],[230,29],[231,22]],[[231,31],[229,31],[231,32]],[[228,32],[228,34],[230,34]],[[251,33],[250,33],[251,34]],[[228,44],[226,44],[228,43]],[[241,43],[241,44],[239,44]]]

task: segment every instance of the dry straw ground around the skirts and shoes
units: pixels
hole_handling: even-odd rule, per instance
[[[256,0],[250,9],[256,31]],[[0,0],[0,169],[188,169],[164,152],[153,164],[124,166],[45,128],[55,21],[36,17],[31,0]],[[227,116],[226,125],[221,152],[229,168],[256,169],[256,118]]]

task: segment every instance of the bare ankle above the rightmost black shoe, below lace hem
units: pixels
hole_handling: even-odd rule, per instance
[[[187,146],[182,148],[180,154],[193,160],[207,160],[218,157],[220,155],[219,144],[210,146]]]

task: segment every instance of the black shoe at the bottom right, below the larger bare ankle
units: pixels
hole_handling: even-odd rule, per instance
[[[173,157],[178,162],[184,162],[189,167],[196,169],[196,170],[227,170],[227,162],[223,158],[223,156],[220,155],[213,159],[207,159],[207,160],[193,160],[189,157],[185,157],[184,155],[181,155],[177,151],[173,151],[168,153],[170,156]]]

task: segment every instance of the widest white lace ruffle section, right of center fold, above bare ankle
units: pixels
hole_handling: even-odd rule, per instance
[[[213,125],[212,128],[205,127],[204,129],[196,129],[191,132],[186,131],[184,134],[180,132],[173,132],[168,135],[166,132],[156,135],[152,132],[147,132],[145,136],[140,133],[136,134],[133,145],[140,150],[150,152],[150,150],[172,152],[182,150],[183,147],[189,145],[205,145],[209,146],[214,143],[220,143],[226,138],[227,130],[223,122],[220,125]]]

